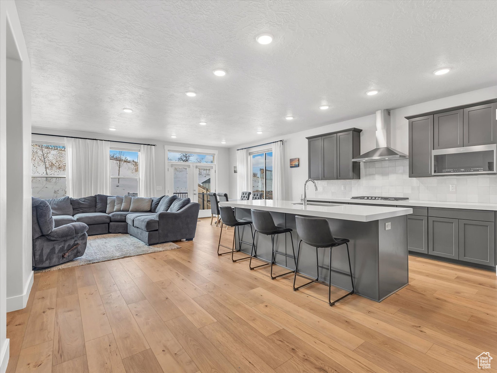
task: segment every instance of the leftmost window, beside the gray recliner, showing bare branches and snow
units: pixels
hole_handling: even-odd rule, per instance
[[[31,144],[31,193],[43,199],[67,195],[65,146]]]

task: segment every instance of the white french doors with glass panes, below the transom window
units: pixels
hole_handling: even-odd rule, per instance
[[[168,194],[179,198],[190,198],[200,204],[199,218],[209,217],[211,202],[209,193],[216,190],[215,168],[208,164],[188,164],[185,162],[169,162]]]

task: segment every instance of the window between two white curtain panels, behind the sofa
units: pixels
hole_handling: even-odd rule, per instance
[[[110,150],[110,194],[138,196],[139,151]]]

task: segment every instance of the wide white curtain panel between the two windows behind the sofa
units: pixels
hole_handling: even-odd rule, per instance
[[[109,142],[66,138],[67,195],[110,194]]]

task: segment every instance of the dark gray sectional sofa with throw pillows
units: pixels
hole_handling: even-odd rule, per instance
[[[114,204],[111,202],[116,198],[121,199],[123,209],[129,210],[133,206],[140,209],[140,207],[147,206],[145,208],[148,211],[114,211]],[[131,200],[131,197],[126,196],[126,198]],[[129,233],[147,245],[180,239],[192,240],[195,237],[200,209],[198,203],[190,202],[189,198],[178,198],[176,195],[152,199],[132,198],[136,198],[134,201],[131,200],[136,203],[131,202],[131,206],[129,201],[126,205],[122,197],[103,194],[46,201],[52,208],[55,227],[70,223],[84,223],[88,225],[88,235]],[[117,204],[117,200],[114,203]]]

